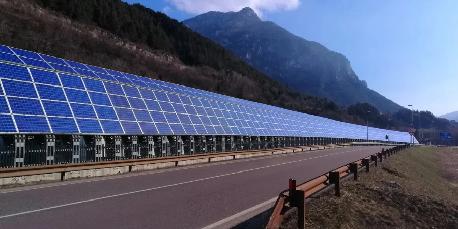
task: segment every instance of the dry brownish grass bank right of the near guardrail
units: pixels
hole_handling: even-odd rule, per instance
[[[362,172],[358,182],[343,182],[340,198],[329,192],[310,202],[306,227],[458,228],[456,162],[456,149],[402,151]],[[294,214],[285,217],[282,228],[296,228]]]

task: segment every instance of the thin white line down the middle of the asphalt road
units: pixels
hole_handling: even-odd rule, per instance
[[[371,148],[375,148],[375,147],[371,147]],[[371,149],[371,148],[365,148],[365,149]],[[189,184],[189,183],[198,182],[198,181],[205,181],[205,180],[209,180],[209,179],[225,177],[225,176],[230,176],[230,175],[234,175],[234,174],[246,173],[248,171],[254,171],[254,170],[259,170],[259,169],[264,169],[264,168],[270,168],[270,167],[275,167],[275,166],[285,165],[285,164],[291,164],[291,163],[296,163],[296,162],[301,162],[301,161],[308,161],[308,160],[312,160],[312,159],[328,157],[328,156],[337,155],[337,154],[344,154],[344,153],[349,153],[349,152],[354,152],[354,151],[359,151],[359,150],[363,150],[363,149],[350,150],[350,151],[344,151],[344,152],[333,153],[333,154],[327,154],[327,155],[322,155],[322,156],[317,156],[317,157],[312,157],[312,158],[306,158],[306,159],[297,160],[297,161],[289,161],[289,162],[284,162],[284,163],[280,163],[280,164],[274,164],[274,165],[268,165],[268,166],[259,167],[259,168],[252,168],[252,169],[247,169],[247,170],[243,170],[243,171],[237,171],[237,172],[234,172],[234,173],[223,174],[223,175],[218,175],[218,176],[214,176],[214,177],[207,177],[207,178],[202,178],[202,179],[197,179],[197,180],[192,180],[192,181],[186,181],[186,182],[181,182],[181,183],[177,183],[177,184],[165,185],[165,186],[155,187],[155,188],[148,188],[148,189],[143,189],[143,190],[138,190],[138,191],[133,191],[133,192],[126,192],[126,193],[121,193],[121,194],[116,194],[116,195],[109,195],[109,196],[104,196],[104,197],[99,197],[99,198],[94,198],[94,199],[88,199],[86,201],[79,201],[79,202],[74,202],[74,203],[69,203],[69,204],[64,204],[64,205],[52,206],[52,207],[48,207],[48,208],[36,209],[36,210],[32,210],[32,211],[26,211],[26,212],[20,212],[20,213],[15,213],[15,214],[10,214],[10,215],[4,215],[4,216],[0,216],[0,219],[12,217],[12,216],[17,216],[17,215],[24,215],[24,214],[34,213],[34,212],[41,212],[41,211],[55,209],[55,208],[62,208],[62,207],[67,207],[67,206],[72,206],[72,205],[77,205],[77,204],[82,204],[82,203],[88,203],[88,202],[93,202],[93,201],[100,201],[101,199],[108,199],[108,198],[113,198],[113,197],[118,197],[118,196],[124,196],[124,195],[140,193],[140,192],[152,191],[152,190],[161,189],[161,188],[167,188],[167,187],[173,187],[173,186],[178,186],[178,185],[183,185],[183,184]]]

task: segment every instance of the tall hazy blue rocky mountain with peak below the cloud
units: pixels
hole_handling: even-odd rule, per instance
[[[367,88],[344,55],[262,21],[251,8],[211,11],[182,23],[298,91],[345,106],[367,102],[385,112],[402,108]]]

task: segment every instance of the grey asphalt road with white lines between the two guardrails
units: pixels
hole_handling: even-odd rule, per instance
[[[0,228],[203,228],[377,153],[349,147],[0,190]],[[386,147],[385,147],[386,148]]]

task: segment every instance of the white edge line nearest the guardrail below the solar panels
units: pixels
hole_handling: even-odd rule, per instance
[[[329,151],[329,150],[334,150],[334,149],[340,149],[340,148],[328,148],[328,149],[322,149],[322,151]],[[364,148],[364,149],[371,149],[371,148]],[[361,149],[362,150],[362,149]],[[309,150],[309,151],[300,151],[300,152],[294,152],[294,153],[285,153],[285,154],[279,154],[279,155],[272,155],[272,156],[265,156],[265,157],[259,157],[259,158],[251,158],[251,159],[243,159],[243,160],[238,160],[238,161],[229,161],[229,162],[222,162],[222,163],[212,163],[212,164],[205,164],[205,165],[191,165],[189,167],[184,167],[184,168],[169,168],[169,169],[164,169],[164,170],[157,170],[157,171],[152,171],[150,173],[141,173],[140,174],[126,174],[126,176],[120,175],[116,177],[102,177],[102,178],[94,178],[91,180],[84,180],[84,181],[78,181],[78,182],[72,182],[72,181],[66,181],[64,184],[45,184],[45,186],[42,187],[32,187],[32,188],[26,188],[26,187],[18,187],[19,189],[17,190],[8,190],[8,189],[0,189],[0,195],[1,194],[6,194],[6,193],[12,193],[12,192],[21,192],[21,191],[29,191],[29,190],[35,190],[35,189],[42,189],[42,188],[51,188],[51,187],[58,187],[58,186],[65,186],[65,185],[73,185],[73,184],[82,184],[82,183],[89,183],[89,182],[96,182],[96,181],[106,181],[106,180],[113,180],[113,179],[121,179],[121,178],[129,178],[129,177],[137,177],[137,176],[145,176],[145,175],[151,175],[151,174],[161,174],[161,173],[167,173],[170,171],[180,171],[180,170],[185,170],[185,169],[192,169],[192,168],[201,168],[201,167],[208,167],[208,166],[215,166],[215,165],[222,165],[222,164],[232,164],[232,163],[241,163],[241,162],[247,162],[247,161],[254,161],[254,160],[264,160],[264,159],[269,159],[269,158],[277,158],[277,157],[286,157],[286,156],[294,156],[294,155],[299,155],[299,154],[309,154],[309,153],[314,153],[317,152],[318,150]],[[15,188],[12,188],[15,189]]]

